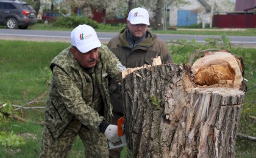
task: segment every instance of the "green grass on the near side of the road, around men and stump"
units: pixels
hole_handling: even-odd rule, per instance
[[[47,94],[41,94],[41,92],[48,90],[49,71],[44,68],[49,70],[52,58],[68,46],[68,43],[0,40],[0,103],[24,105],[36,97],[45,100]],[[177,50],[176,47],[178,46],[170,47],[172,57],[176,63],[183,62],[182,52],[174,51]],[[183,50],[189,51],[190,49]],[[249,80],[248,88],[253,88],[256,85],[256,49],[232,47],[230,51],[243,57],[246,67],[245,78]],[[250,136],[256,136],[254,123],[248,122],[247,119],[249,115],[255,117],[255,93],[255,89],[247,92],[239,129],[243,133],[246,131]],[[44,106],[44,103],[33,103],[29,106]],[[0,121],[0,131],[13,131],[18,135],[28,133],[26,145],[11,148],[1,146],[0,157],[38,157],[39,155],[43,126],[37,125],[35,122],[43,121],[43,110],[23,109],[23,111],[19,111],[19,114],[28,122],[23,123],[13,119],[3,120]],[[238,137],[236,157],[253,157],[256,154],[255,148],[255,142]],[[78,138],[69,157],[84,157],[84,147]]]

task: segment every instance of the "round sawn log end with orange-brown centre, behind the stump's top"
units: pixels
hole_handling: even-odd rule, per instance
[[[191,70],[197,86],[241,89],[243,65],[229,52],[207,52]]]

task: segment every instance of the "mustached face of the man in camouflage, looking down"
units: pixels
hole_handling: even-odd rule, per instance
[[[87,53],[81,53],[78,49],[71,47],[71,53],[73,53],[74,58],[76,58],[81,67],[91,68],[96,66],[96,64],[98,63],[98,48],[92,49]]]

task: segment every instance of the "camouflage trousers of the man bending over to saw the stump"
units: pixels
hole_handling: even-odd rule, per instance
[[[68,157],[77,135],[84,144],[86,158],[108,157],[107,139],[104,134],[90,131],[77,119],[73,119],[56,140],[51,136],[49,129],[44,126],[40,157]]]

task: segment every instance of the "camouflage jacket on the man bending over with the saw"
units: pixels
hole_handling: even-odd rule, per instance
[[[125,69],[113,53],[106,47],[99,48],[99,62],[94,67],[96,84],[104,102],[103,116],[91,108],[92,83],[87,83],[83,69],[73,58],[70,47],[60,52],[51,62],[52,83],[49,99],[44,112],[45,123],[54,139],[62,134],[66,126],[76,117],[87,128],[99,131],[102,120],[112,119],[112,105],[108,94],[108,77],[118,81],[119,72]]]

